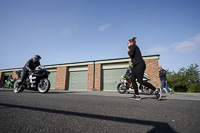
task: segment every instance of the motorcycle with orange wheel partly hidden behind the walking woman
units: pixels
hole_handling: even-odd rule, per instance
[[[131,78],[125,78],[124,76],[121,76],[121,80],[118,85],[117,85],[117,91],[120,93],[120,94],[124,94],[124,93],[130,93],[130,91],[134,90],[133,89],[133,86],[132,86],[132,82],[131,82]],[[150,80],[150,77],[145,73],[144,74],[144,77],[143,77],[143,81],[149,81]],[[138,85],[138,89],[141,93],[145,94],[145,95],[151,95],[153,93],[153,90],[144,86],[144,85],[141,85],[140,83],[138,83],[136,81],[137,85]]]

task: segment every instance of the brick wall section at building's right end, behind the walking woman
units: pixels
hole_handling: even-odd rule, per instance
[[[149,59],[144,60],[146,63],[146,73],[151,78],[150,83],[156,88],[160,88],[160,78],[159,78],[159,69],[158,69],[158,60]]]

